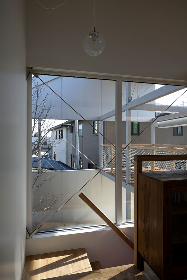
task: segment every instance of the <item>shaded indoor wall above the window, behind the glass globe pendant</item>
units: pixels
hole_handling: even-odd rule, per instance
[[[68,0],[55,10],[27,2],[28,66],[187,80],[185,0],[95,1],[95,29],[105,39],[98,57],[83,49],[93,29],[92,1]]]

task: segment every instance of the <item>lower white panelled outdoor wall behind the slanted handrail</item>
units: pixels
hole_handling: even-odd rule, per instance
[[[85,185],[92,177],[98,173],[94,170],[69,170],[69,171],[47,171],[40,176],[33,188],[33,208],[40,203],[40,197],[47,194],[46,198],[55,196],[59,197],[58,201],[52,205],[47,211],[35,212],[32,216],[32,230],[38,228],[45,222],[61,205],[63,205],[72,195],[74,195],[83,185]],[[36,172],[33,172],[33,177]],[[45,181],[44,180],[48,180]],[[50,180],[49,180],[50,179]],[[44,182],[43,184],[41,184]],[[40,187],[36,187],[40,185]],[[98,173],[82,190],[83,192],[106,216],[115,223],[115,182]],[[65,204],[47,223],[45,223],[40,231],[48,228],[68,228],[80,226],[93,226],[105,224],[92,209],[81,200],[76,194],[71,200]],[[49,201],[44,203],[44,207],[49,205]],[[40,207],[35,208],[38,210]],[[43,213],[44,212],[44,213]]]

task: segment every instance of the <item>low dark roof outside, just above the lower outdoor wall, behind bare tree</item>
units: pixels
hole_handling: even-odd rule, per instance
[[[38,162],[34,161],[34,157],[32,157],[32,167],[38,167]],[[58,160],[50,160],[46,158],[41,158],[41,168],[46,168],[50,170],[74,170],[71,166],[58,161]]]

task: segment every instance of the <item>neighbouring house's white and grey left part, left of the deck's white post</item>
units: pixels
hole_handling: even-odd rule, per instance
[[[99,167],[99,129],[97,121],[78,121],[78,142],[79,142],[79,166],[80,169],[92,169]],[[53,135],[53,159],[65,162],[76,168],[76,140],[75,120],[68,120],[50,129]],[[55,142],[56,140],[56,142]],[[85,156],[86,157],[85,157]],[[93,164],[94,163],[94,164]]]

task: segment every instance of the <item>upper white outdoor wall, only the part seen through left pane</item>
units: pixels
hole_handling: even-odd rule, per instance
[[[101,79],[82,79],[74,77],[58,77],[51,80],[51,76],[40,75],[41,79],[50,86],[63,100],[86,120],[99,120],[103,113],[115,109],[115,81]],[[34,78],[36,80],[36,78]],[[39,84],[41,82],[39,81]],[[52,103],[49,118],[59,120],[81,120],[74,110],[64,103],[46,86],[43,96],[51,93],[46,102],[46,108]],[[33,102],[33,109],[36,105]],[[45,112],[44,112],[45,115]],[[34,114],[33,114],[34,117]]]

